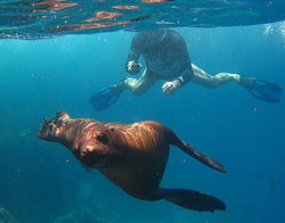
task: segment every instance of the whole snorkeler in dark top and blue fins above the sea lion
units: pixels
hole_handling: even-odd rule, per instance
[[[265,102],[279,102],[281,87],[235,73],[221,72],[214,76],[191,63],[183,37],[173,29],[155,29],[134,36],[127,57],[126,71],[132,75],[142,69],[138,62],[143,56],[146,69],[140,78],[125,78],[117,85],[102,89],[90,99],[94,110],[102,110],[114,103],[126,89],[133,95],[142,95],[159,80],[166,82],[161,89],[164,95],[174,95],[179,87],[189,82],[202,87],[217,88],[235,82]]]

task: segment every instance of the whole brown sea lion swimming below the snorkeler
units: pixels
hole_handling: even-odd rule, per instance
[[[166,199],[196,211],[225,210],[214,196],[187,189],[163,189],[159,183],[167,164],[169,145],[175,145],[209,167],[222,165],[197,152],[175,132],[157,121],[125,124],[91,119],[71,119],[65,111],[44,120],[37,136],[67,147],[85,166],[99,169],[127,194],[146,201]]]

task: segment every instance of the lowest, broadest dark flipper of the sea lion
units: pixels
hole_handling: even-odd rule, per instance
[[[159,189],[159,195],[168,202],[195,211],[225,210],[225,204],[214,196],[186,189]]]

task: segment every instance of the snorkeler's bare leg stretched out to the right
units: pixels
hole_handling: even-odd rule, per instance
[[[201,70],[196,65],[191,65],[194,71],[193,78],[191,78],[191,82],[203,87],[217,88],[231,81],[236,82],[237,84],[246,88],[251,88],[254,85],[252,78],[240,76],[239,74],[235,73],[224,72],[212,76],[208,74],[205,70]]]

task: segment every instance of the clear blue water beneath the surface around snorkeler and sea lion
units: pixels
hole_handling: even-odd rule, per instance
[[[282,26],[176,30],[192,62],[209,73],[239,72],[285,87]],[[165,96],[159,82],[142,96],[126,92],[109,109],[92,110],[91,95],[126,77],[134,34],[0,41],[0,206],[23,223],[282,222],[285,98],[264,103],[233,83],[215,90],[189,83]],[[42,118],[57,109],[101,121],[158,120],[174,129],[229,171],[216,172],[172,147],[161,186],[215,195],[227,210],[196,212],[136,200],[98,171],[86,172],[63,146],[35,136]]]

